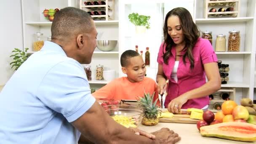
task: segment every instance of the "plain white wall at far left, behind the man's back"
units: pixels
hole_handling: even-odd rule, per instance
[[[23,49],[21,0],[1,0],[0,18],[0,85],[4,85],[13,74],[11,51]]]

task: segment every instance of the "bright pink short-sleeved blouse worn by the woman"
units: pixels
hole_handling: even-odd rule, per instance
[[[190,70],[190,61],[188,57],[185,58],[186,64],[183,62],[183,56],[180,56],[179,67],[177,69],[178,82],[176,83],[171,78],[171,72],[175,64],[176,48],[171,49],[171,54],[168,59],[168,64],[163,61],[163,52],[165,53],[165,43],[163,42],[159,48],[157,62],[163,64],[163,72],[169,79],[167,96],[165,98],[164,106],[168,107],[172,99],[180,96],[187,91],[199,88],[206,83],[205,70],[203,64],[217,62],[216,53],[213,50],[211,43],[208,40],[199,38],[195,47],[192,50],[194,56],[194,69]],[[184,55],[185,51],[181,52]],[[209,96],[197,99],[189,99],[181,108],[197,108],[201,109],[209,104]]]

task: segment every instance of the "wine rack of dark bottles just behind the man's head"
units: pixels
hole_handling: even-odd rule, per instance
[[[80,0],[80,9],[87,11],[95,21],[114,20],[115,0],[99,2],[104,2],[104,4],[98,3],[98,1]]]

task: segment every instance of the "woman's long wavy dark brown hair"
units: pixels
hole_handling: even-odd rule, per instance
[[[195,43],[200,36],[200,32],[197,29],[197,26],[194,23],[191,14],[186,8],[174,8],[169,11],[165,16],[165,22],[163,26],[164,42],[166,44],[166,52],[163,55],[164,63],[168,64],[168,58],[171,54],[171,48],[175,45],[175,43],[171,39],[171,36],[168,34],[167,28],[167,20],[171,16],[178,16],[181,22],[181,29],[184,34],[185,48],[187,48],[186,53],[183,56],[183,62],[184,64],[186,64],[185,58],[188,57],[191,63],[190,69],[192,69],[194,68],[194,57],[192,54],[192,49],[194,48]]]

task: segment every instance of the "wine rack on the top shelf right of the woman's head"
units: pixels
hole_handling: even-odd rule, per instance
[[[205,19],[239,17],[239,11],[240,0],[205,0]]]

